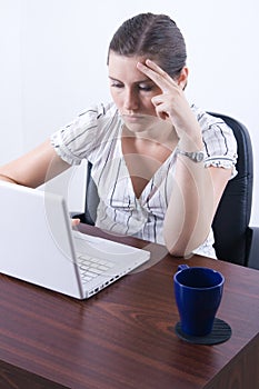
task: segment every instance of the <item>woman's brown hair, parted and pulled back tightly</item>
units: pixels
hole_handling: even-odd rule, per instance
[[[166,14],[140,13],[126,20],[111,39],[108,51],[126,57],[153,59],[171,77],[186,66],[186,42],[176,22]]]

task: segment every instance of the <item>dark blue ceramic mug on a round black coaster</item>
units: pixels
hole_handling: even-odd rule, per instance
[[[223,283],[223,276],[213,269],[178,267],[173,286],[182,332],[196,337],[211,332]]]

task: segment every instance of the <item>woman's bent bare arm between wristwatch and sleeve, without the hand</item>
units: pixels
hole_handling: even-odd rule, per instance
[[[205,168],[178,156],[176,182],[167,209],[163,236],[173,256],[188,256],[207,239],[231,170]]]

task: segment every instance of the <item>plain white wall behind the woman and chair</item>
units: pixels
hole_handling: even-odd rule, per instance
[[[109,100],[109,40],[124,19],[147,11],[170,14],[186,37],[188,98],[249,128],[251,223],[259,225],[257,0],[0,0],[0,163],[43,141],[88,104]],[[71,207],[81,199],[79,181]]]

